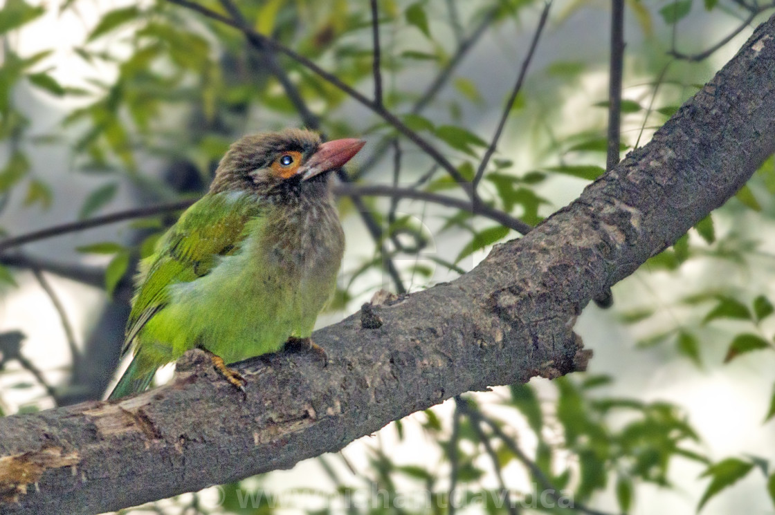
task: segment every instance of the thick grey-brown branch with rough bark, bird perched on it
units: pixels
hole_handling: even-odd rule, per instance
[[[721,205],[775,149],[775,17],[656,133],[452,283],[317,331],[329,353],[201,354],[120,402],[0,419],[0,513],[100,513],[336,451],[458,393],[584,369],[580,310]]]

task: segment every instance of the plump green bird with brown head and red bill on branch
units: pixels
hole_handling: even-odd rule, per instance
[[[344,252],[329,180],[364,143],[322,142],[305,129],[232,143],[208,192],[140,262],[122,349],[133,359],[108,400],[146,390],[192,348],[243,393],[244,378],[226,365],[283,345],[325,356],[312,328]]]

